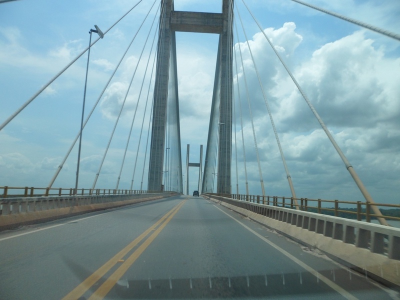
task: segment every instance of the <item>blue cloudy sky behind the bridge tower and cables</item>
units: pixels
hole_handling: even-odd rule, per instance
[[[16,0],[0,3],[0,122],[87,47],[88,31],[94,29],[96,24],[105,35],[92,45],[90,51],[85,105],[87,115],[152,2],[144,0],[138,4],[109,31],[108,28],[133,7],[135,0]],[[308,2],[400,33],[400,4],[397,1]],[[297,197],[363,200],[340,157],[260,29],[241,0],[235,3],[260,73]],[[377,202],[398,204],[400,42],[290,0],[246,0],[246,3],[372,198]],[[93,183],[136,65],[133,84],[126,96],[96,187],[115,187],[136,104],[137,112],[119,187],[129,188],[135,161],[133,188],[140,186],[143,165],[146,168],[148,164],[144,161],[144,149],[150,102],[146,114],[144,107],[151,83],[148,80],[150,70],[141,92],[140,86],[147,60],[149,66],[153,63],[149,49],[155,25],[151,30],[150,26],[158,4],[156,1],[83,130],[79,187],[90,188]],[[220,12],[221,3],[216,0],[175,0],[175,9]],[[243,29],[239,25],[239,14],[235,16],[238,38],[234,33],[234,49],[237,59],[240,59],[240,42],[265,193],[289,197],[283,163]],[[143,48],[148,32],[148,41]],[[95,33],[92,38],[97,38]],[[205,151],[217,42],[215,34],[176,33],[183,162],[186,144],[190,144],[190,162],[199,160],[200,144],[204,145]],[[139,59],[141,51],[143,54]],[[47,186],[79,131],[86,62],[87,52],[0,131],[0,186]],[[249,192],[261,194],[243,68],[239,60],[237,69]],[[239,193],[245,193],[236,74],[234,77],[236,134],[232,133],[232,139],[236,135]],[[150,88],[150,99],[151,93]],[[142,122],[143,136],[138,146]],[[234,159],[234,145],[232,149]],[[76,158],[77,146],[72,149],[53,187],[74,186]],[[236,185],[235,164],[233,160],[233,191]],[[190,169],[189,191],[197,189],[196,171]],[[143,186],[146,186],[146,170],[143,178]]]

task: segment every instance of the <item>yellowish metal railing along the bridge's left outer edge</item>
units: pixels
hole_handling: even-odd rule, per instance
[[[79,188],[74,193],[74,188],[61,187],[14,187],[0,186],[0,198],[7,197],[40,197],[40,196],[72,196],[72,195],[120,195],[120,194],[137,194],[150,193],[147,190],[135,189],[105,189],[105,188]]]

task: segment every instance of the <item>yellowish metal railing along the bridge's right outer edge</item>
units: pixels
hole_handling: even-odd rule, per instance
[[[371,218],[378,217],[378,215],[373,214],[371,210],[371,206],[379,206],[382,207],[390,207],[390,208],[398,208],[400,209],[400,204],[387,204],[387,203],[369,203],[369,202],[362,202],[362,201],[341,201],[341,200],[324,200],[324,199],[308,199],[308,198],[293,198],[293,197],[278,197],[278,196],[261,196],[261,195],[245,195],[245,194],[228,194],[228,195],[221,195],[215,193],[209,193],[210,195],[217,195],[217,196],[225,196],[232,199],[248,201],[252,203],[258,204],[266,204],[272,206],[279,206],[279,207],[286,207],[295,209],[295,201],[297,200],[298,209],[302,211],[310,211],[316,212],[321,214],[329,215],[329,212],[333,212],[333,216],[340,216],[340,213],[348,213],[354,214],[356,217],[354,219],[360,221],[365,219],[367,222],[371,221]],[[324,207],[328,204],[332,205],[333,207]],[[339,204],[346,204],[352,205],[355,208],[355,211],[351,210],[344,210],[340,209]],[[397,220],[400,221],[400,217],[397,216],[390,216],[384,215],[382,212],[383,217],[386,220]]]

